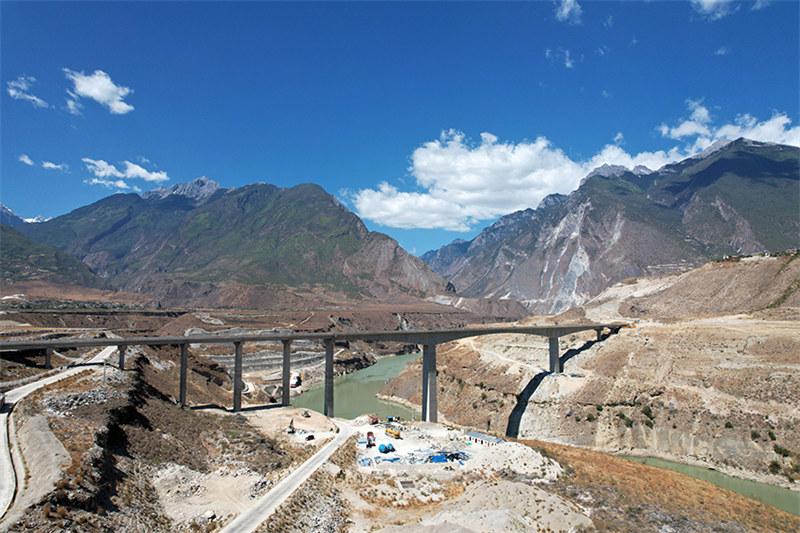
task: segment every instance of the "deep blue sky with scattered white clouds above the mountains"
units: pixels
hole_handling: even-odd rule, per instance
[[[412,253],[719,138],[800,145],[800,4],[2,2],[0,201],[318,183]]]

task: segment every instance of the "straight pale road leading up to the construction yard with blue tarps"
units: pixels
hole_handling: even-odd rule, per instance
[[[331,442],[323,446],[320,451],[300,465],[297,470],[275,485],[275,487],[262,496],[253,507],[237,516],[233,522],[225,526],[225,528],[222,529],[222,533],[251,533],[268,519],[272,513],[275,512],[275,509],[286,501],[286,499],[291,496],[291,494],[297,490],[322,463],[327,461],[333,452],[344,444],[348,437],[354,432],[351,426],[343,422],[336,422],[336,425],[339,427],[339,433]]]

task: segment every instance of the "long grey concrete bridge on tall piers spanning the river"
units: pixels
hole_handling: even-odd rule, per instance
[[[564,363],[558,352],[559,337],[580,331],[595,330],[600,340],[602,332],[617,333],[625,326],[611,324],[573,324],[565,326],[508,326],[474,327],[458,329],[405,330],[405,331],[360,331],[360,332],[321,332],[321,333],[270,333],[263,335],[191,335],[182,337],[127,337],[105,339],[56,339],[44,341],[0,342],[0,352],[21,350],[44,350],[45,367],[50,368],[52,350],[59,348],[78,348],[93,346],[116,346],[119,352],[119,368],[125,368],[125,353],[129,346],[180,347],[180,404],[186,407],[186,376],[188,372],[187,352],[189,344],[233,344],[233,410],[242,408],[242,345],[246,342],[281,342],[283,344],[283,405],[289,405],[289,378],[291,376],[290,357],[292,342],[313,340],[322,342],[325,347],[325,415],[334,416],[333,397],[333,348],[337,341],[397,341],[405,344],[422,345],[422,420],[438,420],[436,398],[436,345],[467,337],[499,335],[504,333],[538,335],[549,339],[550,372],[563,372]]]

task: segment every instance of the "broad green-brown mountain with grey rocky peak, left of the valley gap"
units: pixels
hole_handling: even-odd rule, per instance
[[[165,305],[424,297],[447,285],[312,184],[223,189],[198,178],[142,196],[116,194],[21,230],[116,289]]]

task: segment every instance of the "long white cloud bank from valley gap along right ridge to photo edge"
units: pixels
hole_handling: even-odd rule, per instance
[[[686,105],[687,118],[677,126],[659,128],[664,137],[680,143],[669,150],[628,153],[622,148],[625,137],[618,132],[596,154],[572,160],[545,137],[513,143],[482,133],[480,141],[473,142],[449,130],[414,150],[408,169],[416,181],[414,190],[382,182],[375,189],[344,196],[360,217],[381,225],[467,231],[479,221],[536,207],[548,194],[568,194],[603,164],[656,170],[725,138],[800,146],[800,126],[791,127],[786,114],[776,112],[764,121],[744,114],[718,126],[702,100],[687,100]]]

